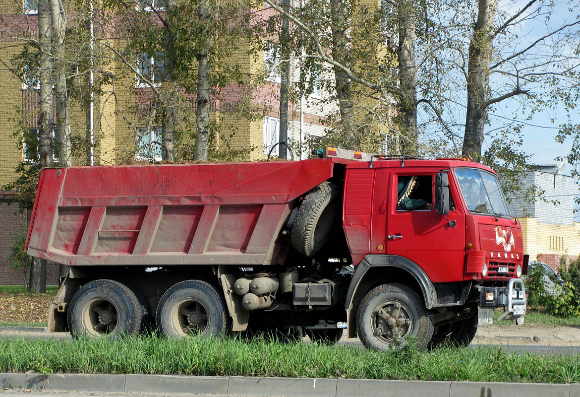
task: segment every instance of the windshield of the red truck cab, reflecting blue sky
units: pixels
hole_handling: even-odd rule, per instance
[[[511,217],[494,174],[481,169],[455,168],[455,176],[469,212]]]

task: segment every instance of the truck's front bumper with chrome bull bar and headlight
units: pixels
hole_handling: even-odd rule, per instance
[[[524,322],[525,305],[524,281],[510,279],[507,287],[481,287],[479,299],[480,324],[491,324],[494,308],[505,308],[505,312],[498,320],[516,320],[518,324]]]

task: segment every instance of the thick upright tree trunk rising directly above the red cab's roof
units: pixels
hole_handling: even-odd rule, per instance
[[[401,154],[415,154],[418,147],[418,135],[414,0],[399,0],[398,22],[398,78],[401,90],[401,112],[404,114],[404,128],[406,135],[403,137],[403,142],[401,142]]]

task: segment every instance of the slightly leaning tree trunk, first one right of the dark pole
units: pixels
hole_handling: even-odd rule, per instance
[[[346,0],[331,0],[332,19],[332,58],[350,67],[348,60],[349,38],[347,36],[347,3]],[[336,96],[338,98],[340,110],[340,124],[343,133],[350,141],[354,139],[356,132],[356,122],[354,119],[353,100],[350,93],[350,80],[347,73],[338,67],[334,67],[334,77],[336,80]]]

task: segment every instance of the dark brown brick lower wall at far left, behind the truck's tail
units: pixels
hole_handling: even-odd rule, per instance
[[[0,285],[24,285],[28,283],[28,272],[21,269],[13,269],[8,260],[10,247],[14,244],[14,236],[26,233],[28,228],[28,216],[18,212],[16,204],[8,205],[6,196],[0,199]],[[59,283],[59,265],[49,262],[46,267],[46,284]]]

